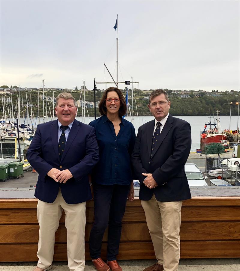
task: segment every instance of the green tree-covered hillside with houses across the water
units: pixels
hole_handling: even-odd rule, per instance
[[[167,90],[165,89],[169,94],[169,99],[171,101],[171,108],[170,108],[170,114],[173,116],[196,116],[196,115],[208,115],[210,108],[211,108],[211,114],[216,115],[216,111],[219,110],[219,115],[229,115],[230,114],[230,102],[240,102],[240,95],[237,91],[231,91],[231,92],[223,92],[221,93],[221,96],[208,96],[211,94],[211,92],[199,92],[198,97],[195,97],[196,95],[193,94],[193,92],[186,91],[187,97],[181,98],[181,95],[178,93],[175,93],[173,90]],[[150,116],[151,112],[149,112],[148,109],[148,103],[149,100],[147,97],[149,97],[149,94],[152,90],[149,91],[142,91],[140,89],[134,89],[134,94],[136,98],[136,102],[134,100],[134,115],[142,115],[142,116]],[[54,97],[56,97],[61,91],[54,91]],[[122,90],[123,94],[126,95],[126,89]],[[217,92],[217,91],[213,91]],[[79,100],[81,91],[75,89],[74,91],[71,91],[71,94],[73,97],[77,100]],[[29,115],[30,115],[30,94],[32,98],[32,110],[34,112],[34,115],[38,115],[38,91],[21,91],[20,92],[20,110],[23,112],[23,115],[26,115],[26,109],[27,109],[27,101],[26,101],[26,95],[28,99],[29,104]],[[103,92],[98,90],[96,92],[96,101],[100,101],[102,97]],[[128,91],[128,101],[132,105],[132,97],[131,97],[132,91]],[[41,94],[42,95],[42,94]],[[52,91],[46,91],[44,93],[46,96],[52,97]],[[217,94],[219,95],[219,94]],[[5,100],[5,105],[9,106],[9,98],[11,97],[13,101],[13,111],[16,105],[17,100],[17,91],[13,92],[11,95],[3,95],[0,96],[0,115],[2,115],[3,112],[3,103]],[[93,102],[94,101],[94,92],[93,91],[85,91],[85,101]],[[137,104],[137,109],[136,109]],[[6,106],[6,107],[7,107]],[[40,107],[40,116],[43,116],[43,101],[40,100],[39,103]],[[52,102],[49,102],[48,105],[48,112],[51,110],[52,113]],[[89,116],[94,116],[94,108],[87,108]],[[7,109],[6,109],[7,111]],[[86,110],[85,110],[86,111]],[[132,109],[131,109],[132,111]],[[46,110],[45,110],[46,112]],[[99,116],[98,109],[96,109],[97,115]],[[78,115],[82,114],[82,108],[79,107]],[[16,114],[15,114],[16,115]],[[46,115],[46,114],[45,114]],[[87,115],[87,112],[86,112]],[[231,115],[238,115],[238,104],[233,103],[231,107]]]

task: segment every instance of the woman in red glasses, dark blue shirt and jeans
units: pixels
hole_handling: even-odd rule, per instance
[[[135,129],[122,118],[127,106],[122,92],[108,88],[99,103],[102,115],[89,125],[95,127],[100,160],[92,172],[94,224],[89,238],[92,261],[98,271],[122,271],[116,261],[127,198],[134,200],[131,153]],[[107,264],[100,258],[102,239],[108,225]]]

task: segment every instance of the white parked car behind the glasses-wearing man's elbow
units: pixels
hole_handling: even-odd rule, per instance
[[[184,169],[187,175],[187,181],[188,181],[189,186],[204,186],[205,185],[205,179],[202,175],[202,171],[198,168],[196,164],[186,163],[184,166]]]

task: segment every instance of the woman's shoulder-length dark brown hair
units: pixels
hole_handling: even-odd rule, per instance
[[[119,88],[115,88],[115,87],[110,87],[107,88],[104,91],[104,94],[99,102],[99,106],[98,106],[98,110],[100,112],[101,115],[107,115],[107,108],[106,108],[106,100],[107,99],[107,94],[110,91],[116,91],[116,93],[118,94],[119,98],[121,99],[120,101],[120,108],[119,108],[119,116],[124,116],[126,115],[127,112],[127,105],[126,105],[126,100],[122,94],[122,91],[119,90]]]

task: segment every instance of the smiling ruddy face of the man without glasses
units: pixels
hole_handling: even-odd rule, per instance
[[[74,120],[77,113],[77,108],[72,99],[65,100],[63,98],[59,98],[58,104],[55,107],[55,113],[59,122],[63,126],[67,126]]]

